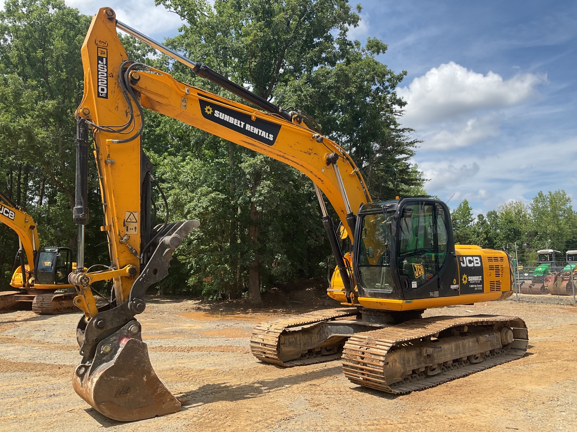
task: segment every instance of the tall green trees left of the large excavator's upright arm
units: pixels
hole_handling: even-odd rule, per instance
[[[61,0],[8,0],[0,11],[0,187],[31,213],[46,246],[76,247],[74,111],[83,93],[80,47],[90,19]],[[87,262],[108,255],[100,244],[102,207],[94,180],[89,199]],[[0,254],[5,276],[14,252]]]

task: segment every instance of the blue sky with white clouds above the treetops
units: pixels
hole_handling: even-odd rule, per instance
[[[67,0],[93,14],[104,3]],[[355,4],[355,2],[351,2]],[[402,123],[424,140],[426,190],[475,214],[538,191],[577,199],[577,3],[362,1],[353,39],[388,44],[406,70]],[[152,0],[110,0],[118,19],[162,40],[181,21]]]

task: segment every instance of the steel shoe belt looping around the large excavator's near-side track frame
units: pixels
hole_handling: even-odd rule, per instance
[[[484,361],[479,363],[455,362],[449,366],[443,366],[443,370],[439,374],[433,376],[426,376],[424,373],[412,374],[403,381],[387,385],[384,367],[388,364],[386,356],[391,347],[418,342],[421,338],[433,336],[451,327],[497,323],[504,323],[507,327],[512,328],[514,340],[503,349],[496,350]],[[343,348],[343,372],[351,382],[358,385],[388,393],[410,393],[523,357],[528,342],[527,326],[519,317],[475,315],[422,318],[351,336]]]

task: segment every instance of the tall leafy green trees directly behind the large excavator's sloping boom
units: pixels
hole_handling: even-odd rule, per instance
[[[213,5],[163,0],[157,4],[187,21],[181,34],[167,41],[171,47],[260,96],[317,116],[325,135],[342,143],[353,157],[366,159],[361,166],[365,175],[376,179],[377,199],[422,187],[421,173],[408,162],[416,141],[397,122],[404,102],[394,89],[406,73],[394,74],[377,62],[374,57],[386,49],[380,41],[369,39],[362,47],[347,38],[350,26],[358,24],[360,6],[354,12],[343,0],[216,1]],[[183,81],[233,97],[182,65],[164,58],[156,65]],[[328,78],[331,85],[325,82]],[[370,114],[364,115],[364,109],[370,109]],[[170,124],[166,135],[177,139],[170,141],[170,148],[162,144],[166,139],[147,140],[149,150],[203,160],[203,167],[218,161],[219,180],[213,184],[226,199],[224,207],[216,204],[218,219],[207,222],[222,231],[222,241],[215,252],[218,266],[203,277],[204,284],[210,285],[205,290],[234,295],[248,287],[249,298],[258,302],[260,289],[272,281],[313,274],[316,265],[303,262],[318,263],[316,256],[323,250],[326,254],[328,248],[323,244],[310,180],[253,151],[170,120],[151,118],[160,125]],[[302,241],[295,242],[295,237]],[[182,254],[190,262],[196,252],[187,249]]]

